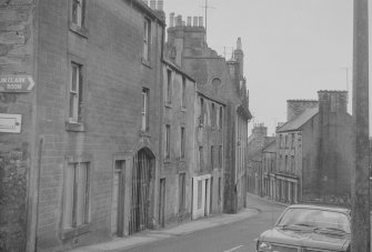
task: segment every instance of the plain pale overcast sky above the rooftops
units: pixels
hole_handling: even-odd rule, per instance
[[[184,20],[204,16],[204,4],[205,0],[164,0],[167,23],[170,12]],[[254,123],[264,122],[270,134],[277,122],[285,121],[289,99],[318,100],[319,90],[349,89],[351,94],[351,0],[208,0],[208,4],[212,7],[208,44],[230,58],[241,37],[250,110]],[[351,103],[350,95],[350,111]]]

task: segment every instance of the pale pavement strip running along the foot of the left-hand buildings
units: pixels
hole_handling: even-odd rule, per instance
[[[249,196],[254,196],[250,194]],[[261,199],[262,200],[262,199]],[[92,244],[89,246],[81,246],[69,252],[117,252],[123,251],[130,248],[134,248],[142,244],[148,244],[155,241],[165,240],[173,236],[185,235],[200,230],[211,229],[219,225],[225,225],[233,222],[239,222],[241,220],[254,216],[259,214],[260,210],[255,209],[254,205],[249,205],[249,208],[241,210],[235,214],[221,213],[217,215],[211,215],[208,218],[193,220],[184,224],[180,224],[169,229],[162,230],[147,230],[137,233],[131,236],[125,238],[113,238],[109,242]]]

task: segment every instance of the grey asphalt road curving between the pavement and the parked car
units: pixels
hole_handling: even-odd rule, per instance
[[[139,245],[125,252],[254,252],[253,240],[272,226],[284,206],[249,198],[249,206],[260,210],[258,215],[240,222],[201,230],[194,233],[170,238]]]

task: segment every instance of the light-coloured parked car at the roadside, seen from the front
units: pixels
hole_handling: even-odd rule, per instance
[[[350,251],[350,210],[294,204],[257,240],[257,252]]]

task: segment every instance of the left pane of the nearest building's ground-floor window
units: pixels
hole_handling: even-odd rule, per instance
[[[63,203],[63,229],[72,228],[73,212],[73,187],[74,187],[74,165],[69,164],[66,174],[64,203]]]

